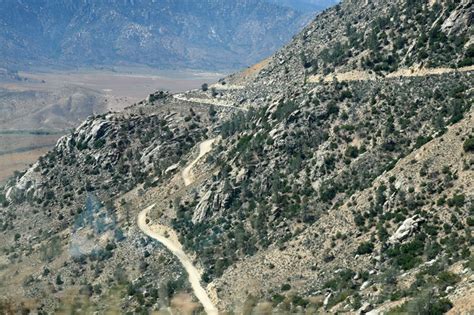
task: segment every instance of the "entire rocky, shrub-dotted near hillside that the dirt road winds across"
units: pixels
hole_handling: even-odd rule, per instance
[[[0,195],[3,308],[199,308],[146,208],[221,311],[472,311],[471,8],[344,1],[241,73],[90,118]]]

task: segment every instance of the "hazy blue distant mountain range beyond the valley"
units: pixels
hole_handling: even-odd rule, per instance
[[[0,0],[0,4],[0,66],[8,68],[116,64],[240,68],[270,55],[320,8],[309,0]]]

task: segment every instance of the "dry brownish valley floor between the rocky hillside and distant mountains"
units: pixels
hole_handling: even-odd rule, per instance
[[[0,183],[45,154],[92,114],[120,111],[157,90],[214,82],[221,73],[149,68],[36,70],[0,78]]]

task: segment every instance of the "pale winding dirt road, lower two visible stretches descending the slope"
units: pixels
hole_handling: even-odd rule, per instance
[[[193,176],[191,174],[192,167],[201,159],[206,153],[211,151],[212,144],[214,143],[214,139],[206,140],[199,144],[199,155],[196,159],[194,159],[184,170],[182,173],[185,185],[188,186],[193,182]],[[147,216],[151,209],[155,204],[143,209],[140,214],[138,215],[138,227],[140,230],[148,235],[149,237],[157,240],[161,244],[163,244],[173,255],[175,255],[178,260],[183,265],[184,269],[188,273],[188,279],[191,283],[191,287],[193,288],[194,295],[198,298],[201,304],[204,307],[204,310],[208,315],[217,315],[219,312],[217,308],[212,303],[211,299],[209,298],[206,290],[201,286],[201,273],[199,270],[193,265],[191,259],[186,255],[183,251],[182,245],[179,243],[177,237],[165,237],[165,231],[170,231],[169,228],[164,226],[150,226],[147,224]]]

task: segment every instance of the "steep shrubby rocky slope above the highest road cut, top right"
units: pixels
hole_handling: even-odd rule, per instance
[[[304,84],[334,73],[381,77],[407,68],[472,66],[471,20],[472,2],[466,0],[344,1],[276,53],[256,84]]]

